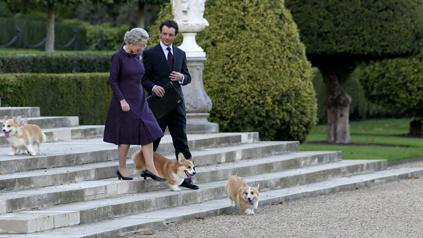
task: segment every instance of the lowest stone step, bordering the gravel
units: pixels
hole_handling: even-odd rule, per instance
[[[278,204],[305,197],[317,197],[341,191],[353,191],[376,183],[388,183],[423,175],[423,168],[399,168],[353,175],[348,178],[332,178],[327,181],[277,190],[261,190],[260,201],[256,210],[263,206]],[[247,182],[254,181],[247,178]],[[112,238],[122,237],[137,232],[146,232],[174,222],[194,220],[195,217],[210,217],[240,211],[236,206],[229,206],[227,197],[207,202],[195,203],[155,211],[136,213],[100,222],[62,227],[33,234],[0,235],[4,238]],[[51,222],[50,222],[51,223]],[[0,223],[1,224],[1,223]],[[12,223],[9,227],[16,224]],[[154,235],[153,235],[154,237]]]

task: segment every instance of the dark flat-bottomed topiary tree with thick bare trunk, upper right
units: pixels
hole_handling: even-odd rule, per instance
[[[417,55],[423,40],[421,0],[286,0],[308,60],[327,88],[327,140],[350,143],[351,97],[341,87],[356,63]]]

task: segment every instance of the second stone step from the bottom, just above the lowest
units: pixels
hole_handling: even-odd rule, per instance
[[[241,164],[242,162],[239,162]],[[350,160],[320,164],[282,172],[257,174],[246,179],[251,186],[260,184],[261,190],[281,189],[327,179],[345,177],[386,168],[386,160]],[[228,177],[228,176],[227,176]],[[75,224],[99,222],[116,216],[153,211],[206,202],[225,197],[226,179],[201,184],[200,189],[181,192],[153,191],[142,194],[97,199],[56,205],[33,211],[21,211],[0,215],[0,232],[34,233]],[[208,209],[207,207],[203,207]]]

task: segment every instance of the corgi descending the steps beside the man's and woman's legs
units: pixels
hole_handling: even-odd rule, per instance
[[[135,175],[140,175],[146,169],[143,151],[134,153],[132,160],[135,163]],[[184,182],[185,178],[191,179],[192,175],[196,173],[192,156],[190,159],[185,159],[182,153],[178,154],[177,161],[172,161],[159,153],[153,152],[153,161],[159,176],[166,179],[170,191],[181,191],[178,186]],[[146,179],[146,175],[144,175],[144,179]]]

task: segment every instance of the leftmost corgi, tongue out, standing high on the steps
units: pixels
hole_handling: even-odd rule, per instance
[[[41,154],[41,143],[47,140],[46,134],[41,131],[37,125],[27,124],[28,119],[22,120],[22,117],[14,117],[8,120],[8,117],[3,118],[3,132],[4,136],[12,146],[12,152],[8,156],[14,156],[16,153],[27,150],[27,152],[35,156],[36,152],[33,144],[38,146],[38,154]]]

